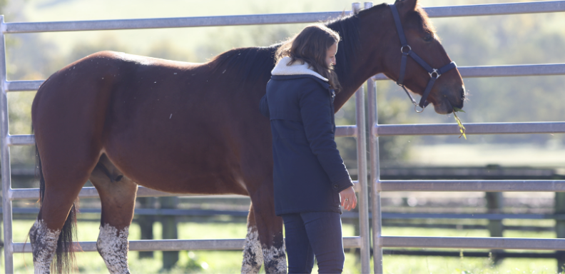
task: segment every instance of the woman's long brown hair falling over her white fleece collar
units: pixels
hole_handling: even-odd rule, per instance
[[[327,78],[330,86],[339,92],[340,81],[333,70],[333,65],[326,65],[325,58],[330,46],[340,41],[340,34],[322,24],[305,27],[299,34],[285,41],[275,53],[275,61],[279,62],[283,57],[290,57],[288,66],[296,61],[307,63],[313,71]]]

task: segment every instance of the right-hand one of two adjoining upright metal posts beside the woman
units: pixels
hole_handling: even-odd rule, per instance
[[[381,238],[381,206],[380,206],[380,168],[379,168],[379,137],[375,135],[378,123],[377,115],[377,84],[369,79],[367,82],[367,100],[369,101],[369,144],[371,161],[371,201],[372,201],[372,236],[373,263],[375,274],[382,273],[382,238]]]

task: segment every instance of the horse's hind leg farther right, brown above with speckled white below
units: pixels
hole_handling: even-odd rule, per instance
[[[110,273],[129,273],[128,233],[138,185],[118,171],[103,154],[90,178],[102,203],[96,249]]]

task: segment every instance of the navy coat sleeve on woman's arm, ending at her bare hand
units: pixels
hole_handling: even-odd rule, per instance
[[[300,115],[312,153],[327,173],[334,191],[353,186],[334,140],[330,94],[322,88],[309,88],[300,96]]]

